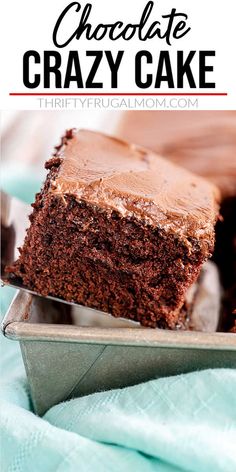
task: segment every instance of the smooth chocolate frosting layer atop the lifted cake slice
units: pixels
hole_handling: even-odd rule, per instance
[[[62,158],[50,191],[73,195],[123,217],[190,236],[212,236],[219,198],[204,179],[153,152],[114,137],[74,130],[57,151]]]

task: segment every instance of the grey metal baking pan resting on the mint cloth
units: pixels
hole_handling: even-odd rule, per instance
[[[5,336],[20,342],[39,415],[101,390],[210,367],[236,368],[234,334],[141,328],[122,320],[107,328],[108,315],[99,318],[91,310],[89,321],[86,309],[84,322],[82,307],[75,314],[71,310],[20,291],[3,322]],[[93,325],[94,313],[101,326]]]

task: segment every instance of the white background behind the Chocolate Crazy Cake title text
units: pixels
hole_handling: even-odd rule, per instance
[[[66,0],[21,0],[20,2],[4,2],[3,21],[1,26],[2,44],[2,68],[1,68],[1,108],[3,109],[38,109],[39,101],[35,97],[9,97],[9,92],[60,92],[51,88],[43,90],[43,86],[38,89],[26,89],[22,81],[22,58],[25,51],[34,49],[42,53],[43,50],[58,50],[66,64],[69,50],[79,50],[84,78],[89,71],[91,58],[85,57],[85,51],[91,49],[112,50],[115,53],[119,49],[124,49],[125,54],[122,60],[119,73],[119,89],[110,88],[110,74],[108,66],[104,61],[101,63],[97,80],[104,83],[104,88],[98,91],[109,92],[141,92],[135,87],[134,81],[134,56],[140,49],[150,50],[153,57],[158,58],[159,50],[170,49],[173,56],[173,70],[175,51],[184,50],[186,54],[189,50],[215,50],[216,57],[209,58],[209,62],[214,64],[214,73],[209,73],[209,80],[216,82],[215,89],[204,89],[202,92],[228,92],[227,97],[201,97],[199,99],[199,109],[235,109],[236,104],[236,54],[235,54],[235,0],[158,0],[155,1],[154,10],[149,22],[160,20],[162,14],[169,13],[172,8],[177,11],[187,13],[191,31],[182,39],[175,40],[169,48],[164,40],[152,39],[141,42],[137,39],[130,41],[118,40],[110,41],[80,41],[73,40],[64,49],[56,49],[52,41],[52,31],[55,22],[70,1]],[[81,2],[85,5],[86,2]],[[121,20],[124,23],[138,23],[146,5],[145,0],[119,0],[119,2],[109,0],[91,0],[93,5],[90,21],[97,23],[111,23]],[[71,33],[76,29],[80,14],[72,13],[68,17],[67,24]],[[153,72],[157,61],[149,65],[147,72]],[[42,70],[42,66],[37,66],[37,72]],[[36,69],[35,69],[36,71]],[[62,68],[63,71],[63,68]],[[175,76],[175,71],[174,71]],[[197,77],[196,69],[195,76]],[[208,77],[208,76],[207,76]],[[76,86],[71,87],[67,92],[83,92]],[[89,90],[87,90],[89,91]],[[95,92],[96,90],[92,90]],[[172,92],[165,86],[158,89],[145,89],[144,92]],[[188,85],[181,92],[197,92],[197,89],[189,89]]]

